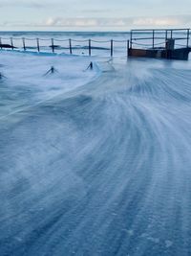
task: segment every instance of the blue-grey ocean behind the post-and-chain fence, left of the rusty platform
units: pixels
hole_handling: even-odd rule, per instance
[[[50,47],[52,43],[57,46],[55,52],[70,53],[69,39],[72,39],[72,47],[74,55],[89,55],[89,39],[92,39],[92,55],[110,56],[111,39],[117,40],[114,42],[117,55],[126,55],[127,40],[129,33],[74,33],[74,32],[9,32],[0,33],[3,43],[11,43],[10,37],[13,37],[15,47],[22,48],[25,37],[25,44],[28,50],[36,51],[36,38],[39,38],[40,51],[52,52]],[[53,42],[52,42],[53,38]]]

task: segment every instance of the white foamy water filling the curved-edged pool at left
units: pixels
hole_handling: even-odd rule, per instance
[[[91,58],[11,51],[0,55],[0,72],[7,78],[1,81],[1,116],[74,90],[98,74],[96,63],[94,70],[86,70]],[[52,66],[58,72],[44,76]]]

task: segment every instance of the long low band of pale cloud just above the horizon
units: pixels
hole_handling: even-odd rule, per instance
[[[62,28],[62,29],[96,29],[96,30],[121,30],[142,28],[169,28],[190,27],[191,15],[163,16],[163,17],[129,17],[129,18],[63,18],[49,17],[44,21],[26,23],[22,21],[4,21],[1,26],[6,27],[32,27],[32,28]]]

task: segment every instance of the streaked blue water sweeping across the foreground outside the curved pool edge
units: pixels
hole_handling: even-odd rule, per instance
[[[191,254],[190,65],[111,65],[1,120],[1,255]]]

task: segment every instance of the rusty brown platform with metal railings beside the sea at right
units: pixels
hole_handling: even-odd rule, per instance
[[[129,57],[187,60],[190,29],[132,30]]]

